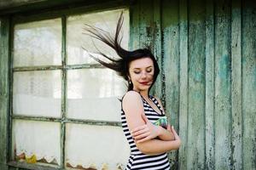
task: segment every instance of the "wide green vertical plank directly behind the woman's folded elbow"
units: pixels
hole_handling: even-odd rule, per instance
[[[165,77],[166,114],[178,132],[179,113],[179,26],[177,1],[163,1],[163,71]],[[170,153],[171,167],[177,168],[177,150]]]

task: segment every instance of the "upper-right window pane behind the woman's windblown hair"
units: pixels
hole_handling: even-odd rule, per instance
[[[122,47],[128,48],[129,41],[129,11],[128,9],[118,9],[111,10],[99,13],[92,14],[82,14],[70,16],[67,19],[67,64],[92,64],[96,63],[93,59],[91,59],[88,54],[84,51],[86,48],[90,53],[94,54],[97,50],[94,46],[101,49],[104,54],[108,54],[109,56],[116,57],[111,48],[107,45],[103,44],[100,41],[93,40],[92,38],[83,34],[83,26],[84,24],[88,24],[90,26],[96,26],[101,28],[102,30],[110,32],[114,35],[114,31],[116,29],[116,25],[119,19],[119,14],[121,11],[124,11],[124,25],[122,30],[123,40]]]

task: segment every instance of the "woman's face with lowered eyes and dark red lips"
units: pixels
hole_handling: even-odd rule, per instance
[[[146,57],[131,61],[129,67],[130,80],[133,89],[136,91],[144,91],[150,88],[154,81],[154,63],[153,60]]]

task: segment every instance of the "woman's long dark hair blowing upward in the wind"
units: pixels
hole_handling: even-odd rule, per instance
[[[138,48],[133,51],[128,51],[120,46],[122,37],[119,36],[119,33],[123,26],[123,22],[124,22],[124,16],[123,16],[123,12],[121,12],[121,14],[119,15],[119,20],[118,20],[118,24],[116,26],[116,31],[115,31],[114,37],[111,36],[107,31],[103,31],[102,29],[97,28],[96,26],[90,26],[90,25],[84,24],[84,31],[85,31],[84,34],[90,35],[90,37],[94,37],[94,38],[104,42],[105,44],[107,44],[110,48],[113,48],[115,50],[116,54],[118,54],[119,59],[113,59],[113,58],[109,57],[108,55],[103,54],[98,49],[97,49],[98,50],[97,54],[102,55],[104,58],[108,59],[109,62],[105,62],[102,59],[98,59],[95,56],[93,56],[92,54],[90,54],[90,57],[95,59],[100,64],[108,67],[109,69],[116,71],[119,74],[119,76],[125,78],[126,81],[129,81],[129,78],[128,78],[129,65],[132,60],[142,59],[142,58],[152,59],[153,63],[154,63],[154,76],[153,76],[154,80],[153,80],[152,85],[150,86],[150,88],[151,88],[153,86],[154,82],[156,81],[157,76],[159,75],[159,72],[160,72],[159,65],[149,48]],[[86,50],[86,49],[84,48],[84,50]],[[128,84],[129,84],[128,91],[130,91],[133,89],[133,84],[132,84],[132,82],[128,83]],[[150,88],[149,88],[149,90],[150,90]],[[149,90],[148,90],[148,92],[149,92]]]

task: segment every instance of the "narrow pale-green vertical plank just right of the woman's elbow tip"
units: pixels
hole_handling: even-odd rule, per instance
[[[186,0],[179,2],[179,136],[182,145],[178,151],[179,169],[187,169],[188,150],[188,4]]]

